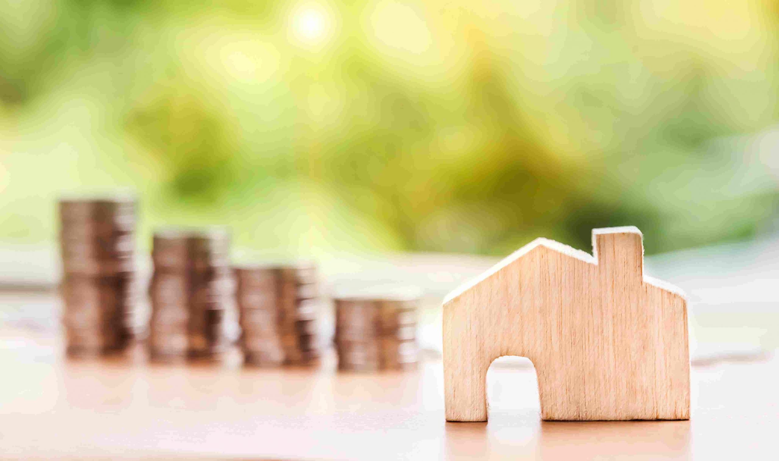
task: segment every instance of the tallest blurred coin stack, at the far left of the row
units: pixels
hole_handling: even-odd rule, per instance
[[[125,349],[146,320],[136,291],[136,200],[62,199],[59,215],[66,350]]]

